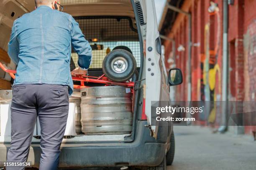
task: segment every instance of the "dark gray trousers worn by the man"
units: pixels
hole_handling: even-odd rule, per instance
[[[68,110],[67,86],[14,85],[11,104],[11,146],[7,161],[26,162],[38,116],[41,127],[39,170],[57,170]],[[24,167],[6,167],[6,169],[24,170]]]

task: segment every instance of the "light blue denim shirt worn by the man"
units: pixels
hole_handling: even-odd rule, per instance
[[[79,67],[87,70],[92,48],[71,15],[43,5],[16,19],[8,44],[8,54],[18,65],[13,85],[68,85],[71,95],[71,45]]]

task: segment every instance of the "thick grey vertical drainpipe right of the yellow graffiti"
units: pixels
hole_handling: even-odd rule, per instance
[[[223,56],[222,56],[222,123],[218,131],[224,133],[228,126],[228,0],[223,0]]]

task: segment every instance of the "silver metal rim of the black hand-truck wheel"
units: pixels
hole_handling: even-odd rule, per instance
[[[123,73],[128,68],[128,62],[124,57],[116,57],[111,62],[111,69],[116,73]]]

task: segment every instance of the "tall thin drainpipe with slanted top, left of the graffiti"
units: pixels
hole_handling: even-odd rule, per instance
[[[173,10],[177,13],[182,13],[187,15],[188,17],[188,60],[187,60],[187,78],[188,78],[188,85],[187,85],[187,101],[191,101],[191,49],[192,49],[192,38],[191,38],[191,13],[188,13],[184,10],[179,9],[178,7],[167,5],[170,10]]]

